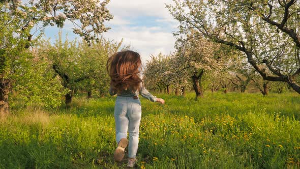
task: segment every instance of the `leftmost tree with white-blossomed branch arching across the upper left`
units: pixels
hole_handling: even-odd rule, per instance
[[[107,31],[104,25],[112,15],[106,9],[109,1],[72,0],[5,0],[0,2],[0,114],[9,112],[9,93],[20,78],[25,78],[24,65],[30,65],[29,47],[39,40],[47,25],[74,25],[73,32],[86,41],[98,40]],[[34,29],[35,28],[35,29]],[[39,33],[33,40],[34,34]],[[22,70],[19,71],[19,70]],[[34,73],[34,71],[32,71]],[[14,77],[14,78],[12,78]],[[34,77],[34,76],[32,76]],[[22,80],[20,80],[22,81]],[[26,80],[25,80],[26,81]]]

